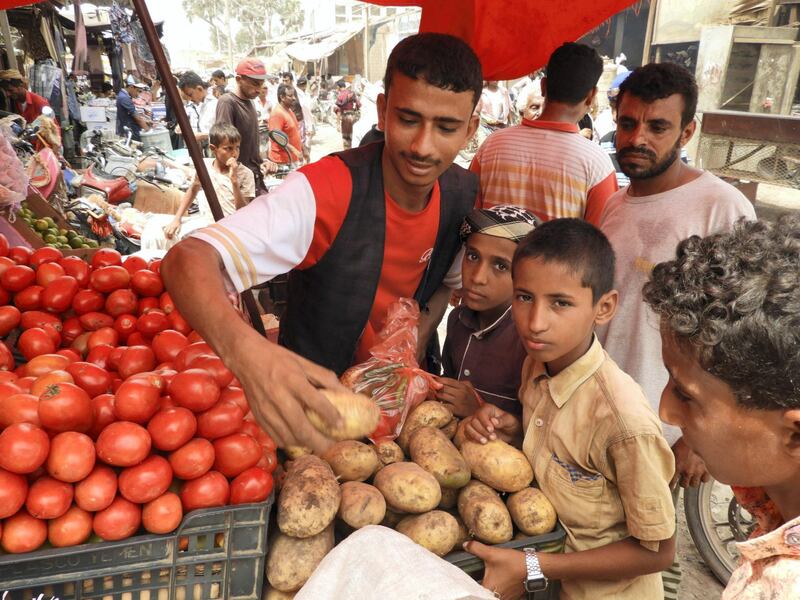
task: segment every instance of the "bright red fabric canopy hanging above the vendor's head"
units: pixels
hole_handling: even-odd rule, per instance
[[[384,6],[420,6],[420,31],[450,33],[481,59],[483,78],[516,79],[547,63],[634,0],[366,0]]]

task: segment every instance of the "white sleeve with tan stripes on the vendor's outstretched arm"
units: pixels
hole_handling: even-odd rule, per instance
[[[314,193],[296,172],[277,189],[192,237],[214,247],[231,283],[242,292],[299,265],[311,246],[315,219]]]

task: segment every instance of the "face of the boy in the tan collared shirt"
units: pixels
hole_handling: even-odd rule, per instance
[[[555,375],[589,349],[595,324],[607,322],[616,292],[597,303],[581,273],[557,261],[525,258],[514,265],[511,312],[528,356]],[[610,304],[609,304],[610,303]]]

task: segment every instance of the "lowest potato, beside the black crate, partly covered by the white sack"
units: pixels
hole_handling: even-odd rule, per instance
[[[267,552],[267,580],[276,590],[296,592],[308,581],[333,544],[332,525],[302,539],[278,532]]]

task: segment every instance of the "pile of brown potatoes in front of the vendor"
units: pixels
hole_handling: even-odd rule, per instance
[[[515,527],[519,537],[547,533],[556,513],[532,481],[522,452],[465,440],[450,410],[433,401],[408,415],[396,442],[345,440],[322,457],[287,461],[266,597],[291,598],[303,586],[333,548],[337,519],[340,533],[385,525],[438,556],[471,538],[508,542]]]

